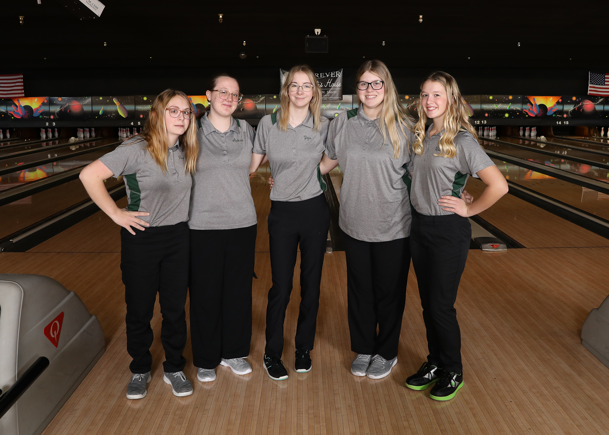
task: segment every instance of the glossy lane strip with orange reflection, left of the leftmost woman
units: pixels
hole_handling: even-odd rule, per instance
[[[68,171],[68,169],[86,166],[113,149],[113,147],[108,147],[100,150],[93,150],[90,153],[79,155],[77,157],[68,157],[65,160],[57,160],[51,163],[42,164],[40,166],[33,166],[32,168],[18,169],[10,174],[0,175],[0,190],[10,189],[23,183],[40,180],[44,177],[48,177],[49,175]]]

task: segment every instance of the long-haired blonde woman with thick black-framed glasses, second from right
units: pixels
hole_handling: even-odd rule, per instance
[[[398,342],[410,266],[407,164],[413,122],[398,100],[387,66],[364,62],[357,71],[359,107],[330,124],[328,156],[343,172],[340,218],[347,254],[351,373],[389,375]],[[376,332],[378,327],[378,333]]]

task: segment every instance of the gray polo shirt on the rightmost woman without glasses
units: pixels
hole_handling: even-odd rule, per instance
[[[413,172],[410,187],[412,205],[418,213],[427,216],[454,214],[442,210],[438,199],[444,195],[460,198],[470,175],[479,178],[476,172],[494,165],[478,141],[467,131],[458,133],[454,138],[457,147],[455,157],[435,156],[440,153],[438,143],[443,133],[444,130],[431,138],[428,133],[423,141],[423,154],[413,154],[412,164],[409,165],[409,170]]]

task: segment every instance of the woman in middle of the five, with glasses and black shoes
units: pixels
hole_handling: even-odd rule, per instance
[[[264,354],[264,369],[273,380],[287,379],[281,361],[283,322],[299,244],[301,302],[294,368],[297,372],[308,372],[312,367],[311,350],[330,222],[323,193],[326,186],[321,177],[330,162],[325,154],[329,120],[322,117],[321,103],[322,90],[312,69],[294,66],[281,88],[280,110],[260,120],[254,141],[250,173],[256,171],[266,155],[274,180],[269,213],[273,286],[267,305]]]

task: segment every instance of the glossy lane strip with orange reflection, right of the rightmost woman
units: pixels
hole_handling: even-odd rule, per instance
[[[584,175],[602,182],[609,183],[609,170],[601,169],[598,166],[593,166],[585,163],[578,163],[577,161],[568,160],[568,158],[561,157],[561,154],[557,154],[556,157],[551,157],[545,154],[539,154],[533,149],[518,149],[509,145],[502,145],[495,142],[480,140],[480,143],[485,149],[501,152],[508,154],[513,157],[522,158],[524,160],[534,161],[535,163],[545,164],[546,166],[552,166],[552,168],[562,169],[563,171],[572,172],[573,174]],[[531,171],[532,172],[532,171]],[[537,172],[535,172],[537,174]],[[542,174],[540,174],[542,175]],[[546,175],[544,175],[545,177]]]

